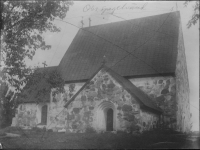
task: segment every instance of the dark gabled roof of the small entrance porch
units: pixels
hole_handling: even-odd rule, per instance
[[[98,69],[98,72],[104,69],[105,71],[107,71],[122,87],[124,87],[134,98],[136,98],[136,100],[150,108],[155,110],[158,113],[162,113],[162,110],[160,108],[158,108],[153,101],[151,100],[151,98],[149,98],[149,96],[144,93],[142,90],[140,90],[139,88],[137,88],[133,83],[131,83],[128,79],[125,79],[124,77],[120,76],[119,74],[117,74],[115,71],[113,71],[112,69],[108,68],[107,66],[103,65]],[[97,73],[98,73],[97,72]],[[95,75],[97,74],[95,73]],[[78,94],[87,86],[87,84],[90,82],[90,80],[93,79],[93,77],[95,76],[93,75],[83,86],[82,88],[65,104],[65,107],[67,107],[75,98],[76,96],[78,96]]]

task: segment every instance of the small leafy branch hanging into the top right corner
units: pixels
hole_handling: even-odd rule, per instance
[[[191,1],[185,1],[184,5],[185,7],[188,5],[188,3]],[[196,1],[193,5],[193,15],[192,18],[188,21],[187,27],[190,28],[192,25],[195,25],[197,21],[199,20],[199,1]]]

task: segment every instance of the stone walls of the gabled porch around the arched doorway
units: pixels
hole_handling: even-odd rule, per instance
[[[63,112],[65,129],[68,132],[85,132],[91,128],[105,131],[105,115],[109,108],[114,113],[113,130],[150,130],[158,122],[157,115],[143,112],[137,101],[101,70],[68,106],[68,111]]]

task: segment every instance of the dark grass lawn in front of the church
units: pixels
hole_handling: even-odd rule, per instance
[[[4,148],[25,149],[119,149],[119,148],[198,148],[199,142],[186,140],[186,135],[167,132],[126,133],[57,133],[7,129],[20,137],[1,138]],[[42,135],[45,132],[43,138]],[[162,143],[165,142],[165,143]],[[196,144],[196,145],[195,145]]]

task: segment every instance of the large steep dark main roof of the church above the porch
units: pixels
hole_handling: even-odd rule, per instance
[[[89,79],[105,55],[108,67],[118,62],[112,69],[121,76],[174,73],[179,15],[172,12],[80,29],[58,70],[65,81]]]

